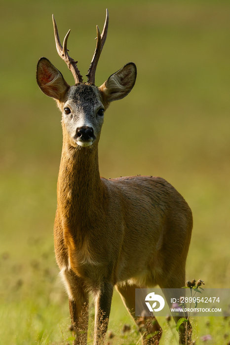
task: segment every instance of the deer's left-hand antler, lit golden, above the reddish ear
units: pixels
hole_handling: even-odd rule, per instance
[[[55,42],[56,42],[56,48],[57,48],[58,55],[62,58],[62,60],[65,61],[68,68],[71,70],[71,72],[74,76],[74,79],[75,79],[75,83],[76,84],[82,83],[83,79],[82,79],[82,75],[80,74],[79,69],[77,68],[77,61],[72,59],[68,54],[67,40],[68,40],[68,37],[70,35],[70,30],[68,31],[68,33],[66,34],[66,36],[64,38],[63,47],[62,47],[60,39],[59,39],[57,24],[56,24],[56,21],[54,19],[54,15],[52,15],[52,18],[53,18],[54,36],[55,36]]]

